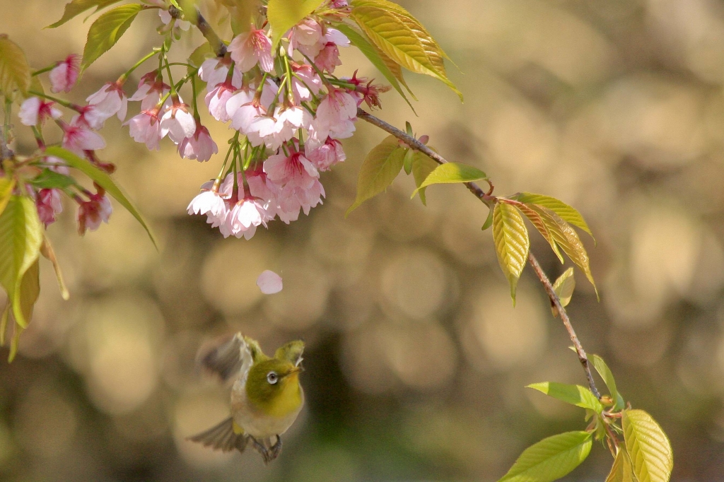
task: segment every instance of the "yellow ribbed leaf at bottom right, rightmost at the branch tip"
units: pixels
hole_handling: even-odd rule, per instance
[[[644,410],[623,410],[623,439],[639,482],[668,482],[674,466],[669,439]]]

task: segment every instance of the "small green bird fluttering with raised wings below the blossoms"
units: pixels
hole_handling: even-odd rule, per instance
[[[201,358],[224,382],[234,380],[231,416],[188,439],[223,452],[244,452],[248,444],[269,463],[282,452],[282,437],[304,405],[299,384],[304,342],[280,347],[269,358],[258,342],[237,333]]]

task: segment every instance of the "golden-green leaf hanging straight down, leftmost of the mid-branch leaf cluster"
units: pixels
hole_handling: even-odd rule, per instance
[[[515,288],[526,266],[530,240],[521,213],[508,203],[497,203],[493,210],[493,240],[498,263],[510,283],[515,306]]]

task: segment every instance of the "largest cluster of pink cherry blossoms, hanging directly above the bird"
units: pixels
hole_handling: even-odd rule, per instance
[[[269,31],[251,25],[199,67],[206,109],[235,133],[219,176],[201,186],[188,212],[206,215],[224,237],[249,239],[260,225],[276,218],[288,224],[320,204],[320,173],[345,160],[340,139],[353,134],[358,106],[379,106],[384,88],[333,75],[350,41],[328,20],[347,12],[346,1],[333,1],[323,17],[285,33],[276,51]],[[141,102],[127,122],[130,135],[149,149],[168,136],[180,156],[208,161],[218,148],[201,124],[196,95],[189,105],[164,83],[162,69],[148,72],[130,98]]]

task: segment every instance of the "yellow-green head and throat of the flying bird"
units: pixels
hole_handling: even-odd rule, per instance
[[[246,395],[267,415],[283,417],[298,410],[302,403],[299,373],[304,343],[289,342],[269,358],[259,350],[246,379]]]

